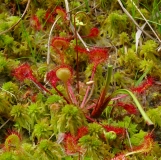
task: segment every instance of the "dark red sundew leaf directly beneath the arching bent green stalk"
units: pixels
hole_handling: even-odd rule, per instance
[[[116,106],[120,106],[120,107],[124,108],[129,114],[137,114],[138,113],[136,107],[131,103],[126,104],[123,102],[118,102],[116,104]]]

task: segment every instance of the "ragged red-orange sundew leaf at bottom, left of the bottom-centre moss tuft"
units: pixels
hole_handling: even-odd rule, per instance
[[[78,146],[77,138],[70,133],[67,133],[64,137],[64,148],[67,155],[73,155],[82,151],[82,148]]]

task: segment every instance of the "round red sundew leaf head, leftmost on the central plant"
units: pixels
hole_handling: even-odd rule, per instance
[[[24,81],[25,79],[35,80],[32,70],[27,63],[15,68],[12,74],[20,81]]]

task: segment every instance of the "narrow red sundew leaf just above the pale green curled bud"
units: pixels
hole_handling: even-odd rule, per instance
[[[126,130],[125,128],[121,128],[121,127],[114,127],[114,126],[110,126],[110,125],[106,125],[103,126],[105,128],[105,130],[107,132],[113,131],[115,132],[117,135],[125,135]]]

